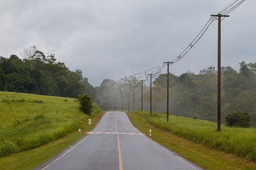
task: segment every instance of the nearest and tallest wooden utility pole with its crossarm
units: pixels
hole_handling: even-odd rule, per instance
[[[229,17],[229,15],[210,16],[218,16],[217,131],[221,131],[221,17]]]

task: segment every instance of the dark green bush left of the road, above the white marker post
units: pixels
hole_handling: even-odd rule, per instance
[[[93,101],[90,100],[90,96],[87,94],[79,95],[80,110],[85,114],[90,115],[92,113]]]

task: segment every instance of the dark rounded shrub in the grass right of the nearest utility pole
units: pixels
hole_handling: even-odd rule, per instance
[[[248,112],[233,111],[225,116],[225,125],[229,127],[250,128],[251,115]]]

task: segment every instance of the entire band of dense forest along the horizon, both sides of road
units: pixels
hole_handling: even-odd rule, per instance
[[[24,92],[39,95],[77,98],[88,94],[105,110],[150,109],[150,87],[134,76],[120,82],[104,79],[100,87],[93,87],[82,71],[70,71],[63,62],[56,62],[54,54],[45,55],[36,46],[10,58],[0,57],[0,91]],[[249,112],[251,125],[256,127],[256,63],[240,63],[240,70],[221,68],[221,122],[232,111]],[[213,66],[196,75],[169,75],[169,113],[177,116],[217,120],[217,71]],[[167,74],[160,74],[152,82],[152,111],[166,113]],[[134,94],[134,95],[133,95]],[[128,100],[129,99],[129,100]],[[134,99],[134,100],[133,100]],[[134,104],[133,104],[134,101]]]

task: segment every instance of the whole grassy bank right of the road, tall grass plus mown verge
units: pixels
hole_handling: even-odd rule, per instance
[[[256,129],[221,127],[216,123],[165,114],[128,113],[134,126],[170,150],[205,169],[256,169]]]

